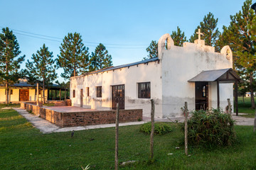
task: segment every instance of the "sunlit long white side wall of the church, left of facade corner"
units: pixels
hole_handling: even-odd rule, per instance
[[[161,118],[161,64],[158,61],[138,64],[122,69],[114,69],[98,74],[89,74],[83,77],[72,77],[70,94],[73,106],[80,106],[80,89],[83,89],[83,107],[98,110],[110,110],[112,108],[112,86],[124,84],[125,109],[142,108],[143,115],[149,116],[151,110],[151,98],[138,98],[137,84],[150,82],[151,98],[156,103],[156,118]],[[102,98],[96,97],[96,86],[102,86]],[[87,97],[86,88],[90,89]],[[75,98],[73,98],[75,89]]]

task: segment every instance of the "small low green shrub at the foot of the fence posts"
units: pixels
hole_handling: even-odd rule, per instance
[[[151,133],[151,122],[144,123],[140,128],[140,131],[145,132],[147,134]],[[168,132],[171,132],[171,126],[166,123],[154,123],[154,133],[157,135],[164,135]]]

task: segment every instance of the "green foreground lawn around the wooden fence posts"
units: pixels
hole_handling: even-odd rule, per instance
[[[119,128],[119,162],[138,161],[120,169],[256,169],[256,133],[235,126],[232,147],[189,147],[185,157],[180,124],[154,137],[154,163],[149,163],[149,135],[139,125]],[[181,149],[176,149],[181,147]],[[114,169],[114,128],[42,134],[14,110],[0,110],[0,169]],[[168,155],[173,153],[172,155]]]

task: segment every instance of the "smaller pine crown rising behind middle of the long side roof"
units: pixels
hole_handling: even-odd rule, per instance
[[[100,43],[90,58],[90,72],[112,66],[112,57],[108,54],[106,47]]]

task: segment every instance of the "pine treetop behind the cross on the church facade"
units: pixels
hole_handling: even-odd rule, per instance
[[[191,38],[189,39],[190,42],[194,42],[194,40],[198,39],[198,28],[201,28],[201,31],[203,33],[202,39],[205,40],[206,45],[215,46],[215,41],[218,38],[218,35],[220,34],[220,31],[217,28],[218,18],[214,18],[213,13],[208,13],[206,16],[204,16],[203,21],[200,23],[200,26],[198,26],[191,35]]]

